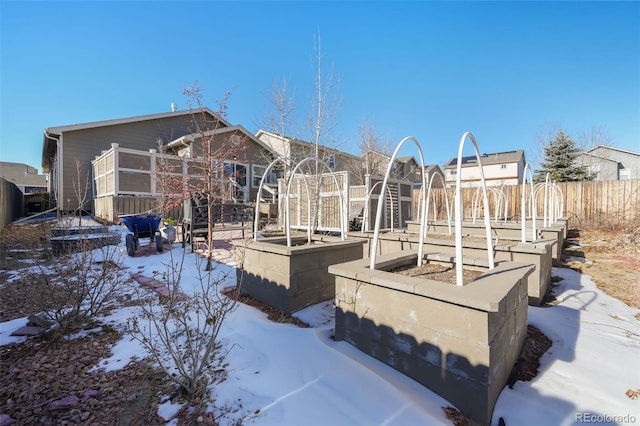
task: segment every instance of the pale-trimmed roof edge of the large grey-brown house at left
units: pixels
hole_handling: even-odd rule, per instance
[[[202,109],[203,113],[209,114],[212,117],[216,117],[224,126],[230,126],[230,124],[218,117],[211,109],[205,107]],[[55,145],[57,139],[64,132],[73,132],[75,130],[93,129],[96,127],[115,126],[119,124],[136,123],[140,121],[158,120],[170,117],[179,117],[181,115],[199,114],[200,110],[182,110],[182,111],[170,111],[158,114],[138,115],[135,117],[116,118],[113,120],[92,121],[88,123],[69,124],[65,126],[49,127],[44,130],[44,136],[42,141],[42,170],[48,172],[51,168],[51,154],[55,153]]]

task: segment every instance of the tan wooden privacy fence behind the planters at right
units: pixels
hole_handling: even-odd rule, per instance
[[[570,226],[619,226],[640,220],[640,180],[612,180],[594,182],[562,182],[558,183],[563,201],[564,215],[569,218]],[[500,187],[492,187],[500,190]],[[438,220],[446,219],[446,206],[444,189],[431,190],[431,202],[429,205],[429,220],[433,220],[434,210]],[[453,200],[454,190],[448,188],[449,203]],[[473,199],[476,196],[476,188],[462,188],[462,204],[464,216],[472,217]],[[490,217],[495,219],[496,192],[489,192]],[[527,185],[527,195],[529,186]],[[506,216],[510,220],[520,219],[520,202],[522,185],[505,185],[502,187],[505,195],[501,205],[506,205]],[[413,204],[417,209],[420,190],[413,192]],[[537,192],[537,216],[543,214],[544,191]],[[479,203],[482,210],[482,203]],[[417,215],[419,212],[416,210]],[[453,210],[451,212],[453,214]],[[480,213],[482,214],[482,213]],[[504,220],[504,213],[500,214]]]

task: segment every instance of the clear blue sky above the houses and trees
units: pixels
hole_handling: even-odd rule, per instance
[[[530,161],[558,126],[640,151],[638,2],[1,1],[0,19],[1,161],[40,168],[47,127],[185,109],[195,81],[255,133],[286,78],[310,139],[318,31],[352,153],[363,120],[440,165],[466,131]]]

